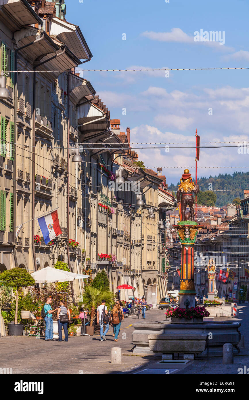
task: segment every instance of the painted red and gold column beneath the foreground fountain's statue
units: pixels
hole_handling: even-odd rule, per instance
[[[180,308],[195,307],[194,244],[198,230],[203,225],[197,225],[197,222],[194,221],[180,221],[173,227],[177,229],[181,242],[179,306]]]

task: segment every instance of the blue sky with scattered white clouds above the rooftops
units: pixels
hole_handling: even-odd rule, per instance
[[[66,10],[93,54],[83,69],[249,66],[247,0],[66,0]],[[220,32],[217,41],[213,31]],[[183,148],[195,146],[195,129],[201,146],[235,146],[201,148],[197,176],[249,171],[249,70],[84,72],[84,78],[121,130],[130,127],[139,160],[155,171],[163,167],[168,184],[185,168],[195,176],[195,148]]]

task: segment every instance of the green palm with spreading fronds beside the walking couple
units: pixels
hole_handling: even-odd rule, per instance
[[[101,304],[101,300],[106,300],[107,308],[110,308],[114,304],[115,295],[106,290],[105,288],[96,289],[93,286],[86,286],[84,288],[84,294],[82,295],[82,302],[85,308],[88,308],[91,314],[90,326],[92,326],[95,318],[95,310]]]

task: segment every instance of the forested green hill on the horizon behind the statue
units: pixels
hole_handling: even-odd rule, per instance
[[[234,172],[230,174],[219,174],[218,176],[209,176],[209,178],[197,178],[197,183],[200,186],[200,190],[214,190],[217,199],[215,205],[218,207],[226,206],[233,202],[236,197],[243,198],[243,190],[249,189],[249,172]],[[180,184],[180,182],[178,183]],[[172,192],[176,192],[178,184],[175,186],[171,183],[168,189]],[[210,185],[212,184],[212,186]],[[240,189],[240,190],[234,190]],[[216,191],[217,190],[217,191]],[[221,191],[220,190],[224,190]]]

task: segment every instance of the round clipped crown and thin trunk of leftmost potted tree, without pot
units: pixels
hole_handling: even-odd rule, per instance
[[[36,284],[34,278],[24,268],[12,268],[0,273],[0,284],[10,288],[16,288],[16,312],[15,324],[17,324],[18,312],[18,290],[20,287],[27,288]]]

